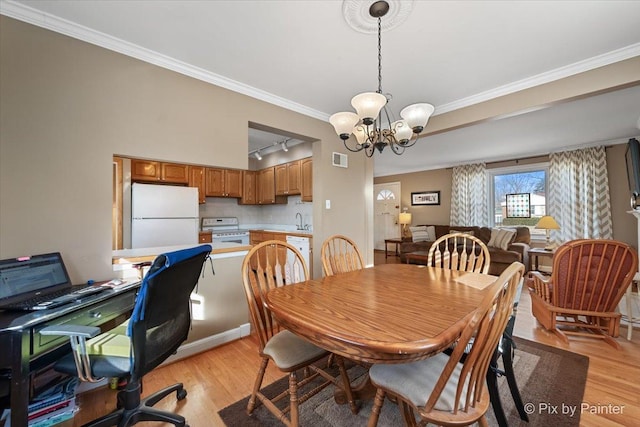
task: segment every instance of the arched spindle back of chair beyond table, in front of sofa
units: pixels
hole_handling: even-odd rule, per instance
[[[491,257],[487,245],[467,233],[450,233],[437,239],[429,248],[427,265],[450,270],[486,274]]]

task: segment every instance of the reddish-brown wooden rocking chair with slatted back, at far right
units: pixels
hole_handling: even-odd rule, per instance
[[[573,240],[556,250],[552,268],[550,278],[531,272],[531,311],[538,322],[565,343],[566,334],[588,336],[619,350],[616,307],[638,271],[636,251],[615,240]]]

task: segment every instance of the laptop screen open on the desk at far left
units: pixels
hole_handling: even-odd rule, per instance
[[[71,285],[59,252],[0,261],[0,302],[32,298]]]

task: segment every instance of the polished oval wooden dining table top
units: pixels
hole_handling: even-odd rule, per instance
[[[382,264],[273,289],[279,324],[332,353],[365,363],[425,359],[449,346],[495,276]]]

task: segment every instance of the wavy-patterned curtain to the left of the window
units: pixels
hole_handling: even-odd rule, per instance
[[[453,168],[451,183],[451,225],[489,224],[487,212],[487,168],[484,163]]]

